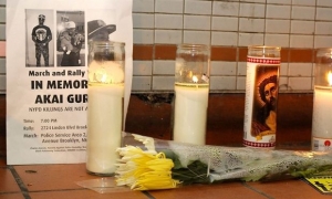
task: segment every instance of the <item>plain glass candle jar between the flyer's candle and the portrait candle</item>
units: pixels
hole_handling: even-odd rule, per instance
[[[173,139],[205,145],[209,96],[210,48],[179,44],[175,63]]]

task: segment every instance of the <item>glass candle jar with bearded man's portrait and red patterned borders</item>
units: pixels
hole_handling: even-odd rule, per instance
[[[280,50],[279,46],[248,46],[245,146],[276,146]]]

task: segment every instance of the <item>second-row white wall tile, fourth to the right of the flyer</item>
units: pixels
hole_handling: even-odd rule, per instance
[[[230,17],[212,17],[211,30],[238,31],[239,19]]]

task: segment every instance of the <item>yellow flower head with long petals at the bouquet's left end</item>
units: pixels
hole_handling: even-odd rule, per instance
[[[172,179],[172,159],[164,153],[144,151],[138,147],[126,146],[117,149],[122,159],[117,164],[116,182],[134,190],[176,188],[178,180]]]

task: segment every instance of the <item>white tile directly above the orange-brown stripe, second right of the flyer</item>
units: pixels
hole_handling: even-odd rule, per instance
[[[181,30],[155,30],[155,43],[178,44],[181,42]]]

